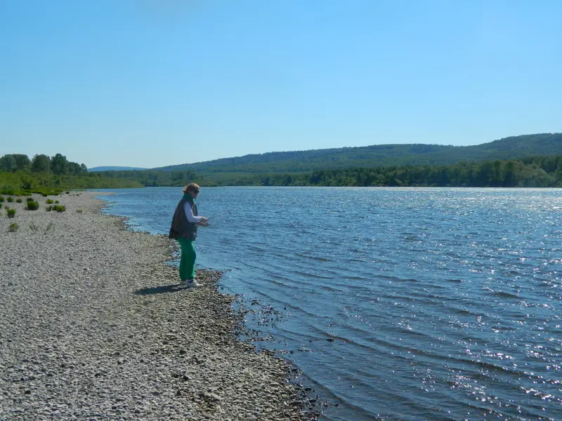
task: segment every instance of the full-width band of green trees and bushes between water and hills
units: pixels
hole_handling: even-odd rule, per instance
[[[22,155],[9,155],[9,159],[6,156],[0,159],[0,189],[26,192],[183,186],[190,182],[204,186],[562,187],[562,155],[531,156],[509,161],[463,161],[440,166],[381,166],[308,173],[209,173],[207,177],[193,170],[73,173],[78,171],[77,167],[60,154],[48,160],[48,170],[45,169],[46,160],[38,159],[38,155],[28,160],[29,163]],[[6,163],[9,164],[8,171],[4,169]],[[42,168],[42,171],[37,168]]]

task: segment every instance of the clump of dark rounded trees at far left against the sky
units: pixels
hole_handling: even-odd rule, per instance
[[[88,168],[83,163],[68,161],[62,154],[55,154],[53,157],[40,154],[33,159],[24,154],[6,154],[0,158],[0,171],[84,175],[88,173]]]

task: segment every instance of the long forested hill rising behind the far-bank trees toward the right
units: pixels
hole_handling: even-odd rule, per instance
[[[296,152],[270,152],[153,168],[153,171],[209,173],[292,173],[353,167],[447,165],[461,161],[521,159],[562,154],[562,133],[503,138],[475,146],[372,145]]]

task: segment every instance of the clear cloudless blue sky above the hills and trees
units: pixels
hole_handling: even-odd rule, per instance
[[[0,155],[152,168],[559,132],[562,1],[0,1]]]

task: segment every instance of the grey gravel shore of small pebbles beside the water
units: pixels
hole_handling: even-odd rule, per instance
[[[221,274],[180,288],[171,241],[94,195],[0,209],[0,420],[308,419],[285,362],[236,340]]]

